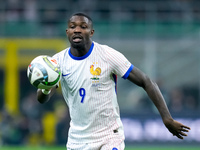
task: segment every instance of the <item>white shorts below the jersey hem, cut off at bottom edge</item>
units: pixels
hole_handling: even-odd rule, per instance
[[[124,150],[124,140],[113,138],[94,143],[67,143],[67,150]]]

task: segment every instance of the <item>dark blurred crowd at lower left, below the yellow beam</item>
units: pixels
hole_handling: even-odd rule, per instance
[[[36,98],[37,89],[20,72],[18,113],[6,110],[3,72],[0,71],[0,147],[2,145],[65,145],[69,129],[69,112],[60,89],[45,104]],[[12,94],[12,93],[11,93]]]

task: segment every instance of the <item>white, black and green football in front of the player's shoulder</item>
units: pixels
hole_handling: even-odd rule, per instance
[[[50,56],[37,56],[27,68],[27,77],[34,87],[50,89],[60,81],[61,72],[59,64]]]

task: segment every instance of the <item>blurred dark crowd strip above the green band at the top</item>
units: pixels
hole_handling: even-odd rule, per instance
[[[134,16],[145,19],[145,13],[153,11],[160,12],[158,14],[160,17],[165,12],[169,15],[174,12],[174,17],[178,17],[176,15],[181,16],[184,11],[197,13],[196,15],[198,15],[200,11],[197,6],[198,2],[198,0],[166,0],[163,2],[159,0],[126,0],[123,2],[122,0],[60,0],[59,2],[49,0],[47,3],[45,0],[7,0],[1,1],[0,21],[44,21],[56,23],[64,19],[63,15],[75,11],[84,11],[90,15],[95,14],[96,18],[100,20],[131,19]],[[149,7],[147,7],[148,5]]]

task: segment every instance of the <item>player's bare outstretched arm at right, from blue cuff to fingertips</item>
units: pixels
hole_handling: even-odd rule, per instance
[[[174,136],[177,136],[180,139],[183,139],[183,136],[187,136],[184,132],[189,132],[190,127],[185,126],[172,118],[164,97],[154,81],[135,66],[130,72],[128,79],[146,91],[149,98],[158,109],[163,123]]]

